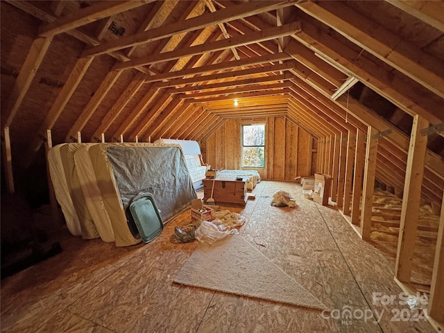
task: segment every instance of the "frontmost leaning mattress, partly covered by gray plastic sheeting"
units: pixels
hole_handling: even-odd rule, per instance
[[[126,208],[138,194],[153,195],[162,221],[189,208],[196,198],[177,144],[94,144],[88,152],[116,246],[141,241],[126,219]]]

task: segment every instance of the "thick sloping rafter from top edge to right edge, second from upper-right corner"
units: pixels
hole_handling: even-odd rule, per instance
[[[305,1],[296,5],[373,56],[444,98],[441,62],[341,1]],[[368,3],[368,6],[372,6]],[[377,37],[373,37],[377,36]]]

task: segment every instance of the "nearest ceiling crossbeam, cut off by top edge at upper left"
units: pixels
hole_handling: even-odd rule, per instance
[[[66,31],[84,26],[91,22],[119,14],[139,6],[143,6],[154,0],[144,1],[100,1],[93,3],[87,8],[82,8],[68,14],[56,21],[49,22],[40,28],[39,34],[42,37],[52,37],[59,33],[65,33]]]

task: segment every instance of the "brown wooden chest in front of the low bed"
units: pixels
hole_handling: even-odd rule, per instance
[[[246,181],[248,178],[216,177],[214,178],[213,198],[216,205],[245,205],[248,198]],[[212,178],[203,180],[203,202],[211,197]]]

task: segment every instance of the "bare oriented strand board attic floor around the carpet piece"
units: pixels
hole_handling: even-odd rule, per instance
[[[278,190],[299,207],[272,207]],[[330,310],[355,318],[173,284],[197,246],[172,241],[173,228],[189,221],[184,212],[150,244],[65,237],[60,255],[1,281],[1,332],[435,332],[413,315],[395,316],[409,308],[399,304],[393,263],[339,212],[305,199],[293,182],[263,181],[254,193],[244,209],[230,208],[246,216],[242,236]],[[396,300],[382,305],[373,293]],[[356,318],[370,309],[379,323]]]

